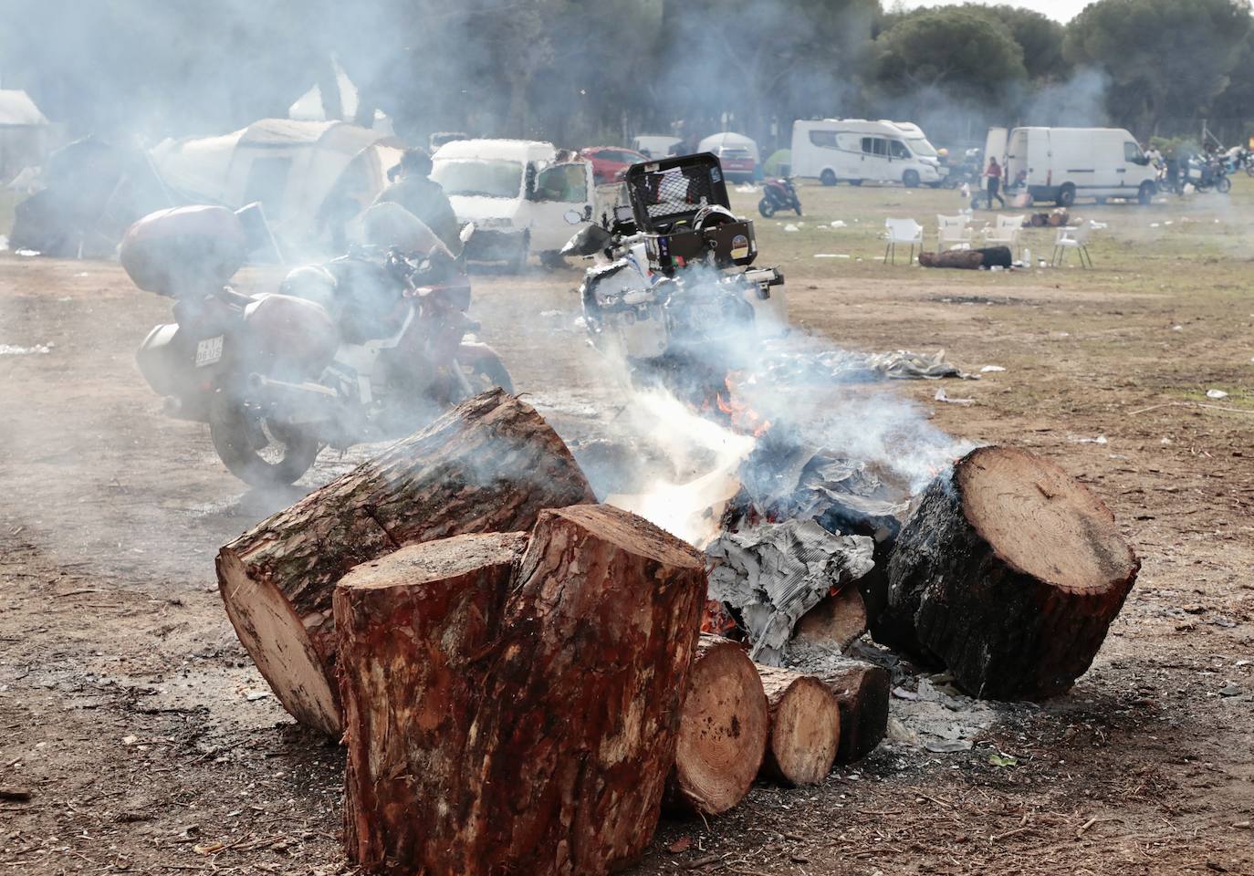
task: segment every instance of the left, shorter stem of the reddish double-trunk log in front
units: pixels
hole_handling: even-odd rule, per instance
[[[458,535],[364,563],[335,590],[349,857],[451,872],[472,798],[464,761],[523,533]]]

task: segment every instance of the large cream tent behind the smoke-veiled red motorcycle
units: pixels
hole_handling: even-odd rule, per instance
[[[222,137],[166,140],[158,173],[179,199],[240,208],[261,202],[276,236],[305,246],[327,221],[366,207],[387,184],[401,144],[345,122],[262,119]]]

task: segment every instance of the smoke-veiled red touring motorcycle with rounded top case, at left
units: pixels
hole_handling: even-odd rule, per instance
[[[139,288],[174,298],[140,373],[168,415],[208,424],[251,486],[292,484],[324,446],[400,437],[492,386],[512,391],[497,352],[466,338],[469,279],[443,246],[361,247],[268,295],[229,286],[245,252],[231,211],[184,207],[137,222],[119,256]]]

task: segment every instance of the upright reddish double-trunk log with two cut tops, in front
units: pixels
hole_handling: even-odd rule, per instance
[[[652,837],[701,556],[606,505],[543,511],[515,566],[519,549],[515,535],[424,544],[336,589],[354,861],[596,875]]]

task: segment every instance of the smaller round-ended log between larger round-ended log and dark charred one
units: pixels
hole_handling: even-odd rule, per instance
[[[840,742],[835,696],[818,678],[791,669],[759,665],[757,674],[771,718],[762,773],[789,785],[821,782]]]

